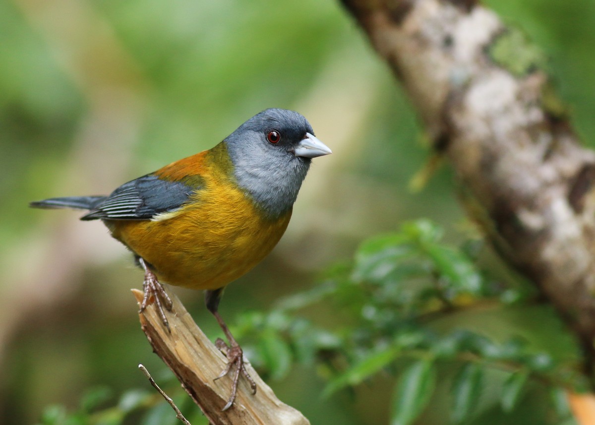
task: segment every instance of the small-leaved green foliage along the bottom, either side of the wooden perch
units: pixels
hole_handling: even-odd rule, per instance
[[[452,424],[478,415],[494,386],[494,407],[512,414],[536,382],[549,390],[552,423],[560,423],[569,417],[565,390],[584,386],[571,360],[538,350],[514,332],[498,340],[464,321],[440,326],[474,310],[510,308],[511,299],[513,305],[532,302],[522,283],[503,283],[478,265],[477,242],[463,246],[444,243],[443,230],[430,221],[405,223],[399,232],[362,243],[353,264],[335,267],[320,285],[281,300],[269,312],[245,312],[233,332],[252,364],[273,381],[286,378],[292,365],[317,365],[328,380],[321,392],[327,399],[378,376],[394,376],[387,407],[391,425],[413,424],[436,403],[440,388],[449,394],[450,413],[444,417]],[[300,317],[308,308],[333,311],[336,326]],[[501,379],[494,381],[496,372]],[[174,389],[177,395],[180,408],[196,411]],[[41,424],[117,425],[134,414],[143,424],[176,423],[170,407],[152,392],[131,390],[110,405],[111,399],[108,389],[94,389],[72,414],[49,407]]]

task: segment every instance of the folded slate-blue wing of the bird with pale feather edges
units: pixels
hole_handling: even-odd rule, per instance
[[[196,179],[165,180],[147,174],[115,189],[81,220],[151,220],[184,205],[193,192],[201,189],[195,183]]]

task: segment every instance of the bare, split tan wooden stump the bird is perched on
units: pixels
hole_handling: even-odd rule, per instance
[[[132,290],[137,302],[143,293]],[[299,411],[281,402],[273,390],[248,364],[248,372],[258,385],[252,390],[243,380],[233,407],[221,411],[229,397],[231,378],[225,376],[217,381],[227,364],[226,357],[211,343],[186,311],[176,295],[170,293],[173,311],[165,311],[171,333],[163,326],[154,307],[139,314],[140,324],[153,346],[155,354],[176,374],[183,388],[201,408],[212,425],[309,425]]]

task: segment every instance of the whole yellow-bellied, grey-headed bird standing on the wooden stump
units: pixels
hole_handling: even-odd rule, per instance
[[[164,308],[171,311],[172,302],[161,283],[205,291],[206,308],[228,340],[228,363],[215,379],[235,367],[227,410],[240,374],[252,393],[256,384],[218,312],[224,288],[277,245],[312,158],[331,153],[303,115],[270,108],[213,148],[124,183],[108,196],[49,198],[30,206],[87,210],[81,220],[103,221],[145,273],[140,312],[155,304],[168,330]]]

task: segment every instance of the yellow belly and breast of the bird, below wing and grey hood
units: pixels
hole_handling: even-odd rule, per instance
[[[247,273],[277,245],[291,211],[270,220],[239,189],[203,189],[192,205],[155,221],[106,223],[162,282],[217,289]]]

